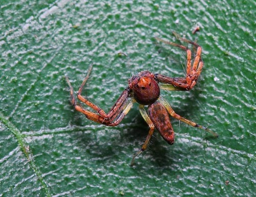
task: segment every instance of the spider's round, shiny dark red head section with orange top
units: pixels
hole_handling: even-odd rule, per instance
[[[158,100],[160,88],[150,71],[142,71],[129,80],[134,99],[141,105],[151,105]]]

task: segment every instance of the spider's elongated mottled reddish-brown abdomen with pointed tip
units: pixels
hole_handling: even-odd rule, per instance
[[[153,103],[148,106],[148,116],[163,139],[169,144],[174,144],[174,130],[165,107],[159,102]]]

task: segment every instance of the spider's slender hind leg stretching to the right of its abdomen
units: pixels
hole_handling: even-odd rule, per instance
[[[175,111],[173,110],[173,108],[170,107],[170,105],[168,104],[168,102],[165,101],[165,100],[163,99],[163,97],[161,97],[161,96],[159,97],[159,102],[160,102],[161,104],[163,104],[163,106],[167,109],[167,111],[169,112],[169,114],[170,114],[171,116],[173,116],[174,118],[176,118],[176,119],[178,119],[178,120],[181,120],[181,121],[185,122],[187,125],[190,125],[190,126],[192,126],[192,127],[198,127],[198,128],[200,128],[200,129],[203,129],[203,130],[209,132],[210,134],[214,135],[215,137],[218,137],[218,134],[217,134],[217,133],[215,133],[215,132],[213,132],[213,131],[207,129],[207,128],[204,127],[204,126],[201,126],[201,125],[196,124],[196,122],[193,122],[193,121],[191,121],[191,120],[188,120],[188,119],[186,119],[186,118],[183,118],[182,116],[180,116],[180,115],[178,115],[177,113],[175,113]]]

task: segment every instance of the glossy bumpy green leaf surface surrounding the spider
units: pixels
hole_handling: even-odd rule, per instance
[[[120,2],[1,1],[0,196],[253,196],[255,2]],[[172,31],[198,40],[205,69],[194,90],[162,95],[220,137],[172,119],[175,144],[155,133],[130,167],[148,131],[138,106],[101,127],[70,106],[63,76],[78,89],[93,64],[87,95],[108,111],[135,71],[184,76],[181,51],[154,40]]]

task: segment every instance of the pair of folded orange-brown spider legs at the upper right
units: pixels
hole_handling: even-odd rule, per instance
[[[161,88],[165,90],[190,90],[192,89],[200,76],[200,73],[203,68],[203,61],[201,59],[201,53],[202,53],[202,47],[199,46],[197,43],[189,41],[185,38],[180,38],[180,40],[186,41],[195,47],[197,47],[197,54],[194,59],[193,66],[191,66],[191,51],[189,48],[179,45],[173,42],[168,42],[165,40],[162,40],[160,38],[156,38],[157,40],[164,42],[165,44],[170,44],[173,46],[180,47],[182,50],[187,52],[187,68],[186,68],[186,78],[170,78],[166,77],[160,74],[156,75],[156,78],[159,80],[159,82],[164,83],[166,85],[162,85]],[[170,84],[170,85],[167,85]]]

